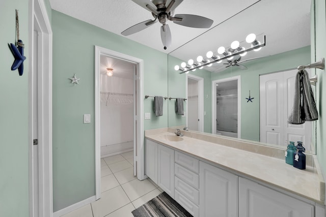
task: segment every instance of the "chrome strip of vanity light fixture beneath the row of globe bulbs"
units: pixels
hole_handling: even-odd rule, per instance
[[[238,52],[233,53],[231,55],[226,55],[226,56],[224,56],[222,58],[216,58],[216,59],[213,58],[212,61],[205,60],[206,63],[205,63],[205,61],[202,60],[202,64],[200,64],[200,65],[199,64],[193,64],[191,66],[186,65],[185,67],[182,67],[182,65],[181,65],[181,68],[179,66],[175,66],[174,69],[176,71],[180,70],[181,72],[179,72],[179,74],[188,73],[189,71],[195,71],[196,69],[202,68],[204,66],[211,66],[212,64],[218,63],[218,62],[221,63],[221,61],[224,60],[224,59],[232,59],[233,56],[236,56],[236,55],[241,55],[241,54],[247,53],[247,52],[252,51],[252,50],[258,51],[258,50],[260,50],[262,47],[264,47],[266,45],[266,36],[264,36],[264,43],[260,43],[257,40],[255,40],[254,42],[257,45],[252,46],[251,48],[248,48],[248,49],[242,49],[241,51],[239,51],[237,49]]]

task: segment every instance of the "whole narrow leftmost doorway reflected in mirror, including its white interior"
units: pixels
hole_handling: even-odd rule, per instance
[[[188,130],[203,132],[203,78],[187,75],[186,126]]]

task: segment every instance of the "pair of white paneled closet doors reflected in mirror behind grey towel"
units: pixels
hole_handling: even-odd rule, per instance
[[[287,123],[293,107],[296,73],[297,70],[290,70],[260,76],[260,141],[277,145],[302,141],[310,150],[311,122]]]

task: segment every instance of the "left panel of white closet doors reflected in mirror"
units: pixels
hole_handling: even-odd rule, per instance
[[[283,81],[280,73],[260,76],[260,141],[283,144]]]

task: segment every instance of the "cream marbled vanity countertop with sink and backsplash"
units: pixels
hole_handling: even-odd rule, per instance
[[[266,150],[264,149],[271,152],[270,147],[255,148],[255,144],[250,144],[254,148],[252,148],[253,151],[248,151],[242,150],[243,145],[246,145],[241,144],[243,142],[198,133],[184,131],[182,133],[185,135],[180,137],[181,141],[167,140],[166,135],[175,136],[171,130],[169,132],[168,128],[145,131],[145,137],[213,163],[217,167],[237,175],[259,180],[319,204],[325,202],[325,182],[315,156],[312,156],[314,167],[306,166],[306,170],[300,170],[286,164],[285,159],[281,160],[270,157],[268,154],[265,155]],[[232,143],[233,147],[227,146],[228,144],[225,143]],[[239,144],[238,148],[235,143]],[[284,156],[284,150],[277,150],[278,153],[280,151]]]

